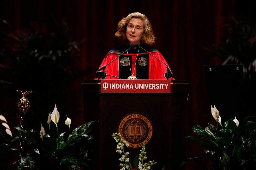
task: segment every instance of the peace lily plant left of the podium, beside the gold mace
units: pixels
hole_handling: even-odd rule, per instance
[[[26,153],[26,157],[22,157],[19,162],[18,169],[31,169],[31,170],[45,170],[45,169],[61,169],[61,170],[79,170],[81,166],[89,167],[88,162],[90,161],[87,156],[91,151],[92,136],[88,135],[91,131],[92,123],[88,122],[78,128],[75,128],[70,134],[71,120],[67,117],[65,124],[69,127],[69,136],[67,141],[64,141],[64,133],[58,134],[57,138],[50,136],[50,123],[51,121],[56,125],[58,131],[58,122],[60,114],[56,108],[48,116],[47,123],[49,124],[49,133],[46,134],[45,129],[41,124],[40,133],[33,129],[23,130],[21,127],[14,127],[20,130],[25,137],[14,137],[13,141],[22,141],[27,145],[27,149],[33,150],[34,152]],[[59,133],[59,132],[58,132]],[[9,144],[0,143],[0,146],[4,145],[13,150]],[[9,169],[12,167],[11,164]]]

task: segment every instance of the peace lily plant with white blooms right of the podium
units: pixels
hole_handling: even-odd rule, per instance
[[[184,160],[180,168],[190,162],[195,161],[208,167],[200,161],[202,158],[208,158],[212,164],[213,170],[251,170],[256,167],[256,132],[255,122],[248,121],[256,117],[246,117],[241,124],[236,119],[226,121],[221,125],[221,118],[216,106],[211,107],[211,113],[217,123],[217,128],[210,123],[208,127],[202,128],[200,125],[192,127],[192,130],[201,135],[198,139],[194,136],[188,136],[194,142],[205,146],[205,155]],[[220,125],[221,129],[218,127]],[[254,130],[250,130],[250,129]]]

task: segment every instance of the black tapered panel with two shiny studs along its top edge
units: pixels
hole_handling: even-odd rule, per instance
[[[237,116],[242,78],[243,64],[204,65],[210,102],[218,109],[222,124]]]

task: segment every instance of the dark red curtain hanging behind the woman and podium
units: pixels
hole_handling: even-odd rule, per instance
[[[69,85],[65,91],[67,100],[65,111],[76,126],[83,123],[81,95],[83,79],[94,79],[96,70],[107,52],[123,43],[114,36],[118,22],[132,12],[145,14],[151,21],[157,38],[153,48],[162,53],[175,79],[188,80],[189,98],[186,118],[186,135],[188,136],[194,135],[190,130],[194,125],[199,124],[205,128],[209,122],[216,124],[210,112],[211,106],[204,83],[203,65],[221,64],[221,61],[207,55],[203,47],[221,43],[220,38],[224,34],[225,24],[229,23],[230,15],[250,13],[254,2],[235,0],[13,0],[2,1],[0,4],[0,18],[10,22],[17,30],[26,28],[35,21],[39,23],[40,28],[51,28],[52,18],[57,22],[65,19],[75,40],[86,40],[81,47],[82,57],[80,62],[77,62],[77,67],[88,69],[89,72]],[[244,14],[245,11],[246,14]],[[5,104],[13,100],[5,101]],[[8,110],[5,104],[0,105],[1,110]],[[74,109],[75,114],[73,114]],[[5,116],[8,122],[12,121],[11,115]],[[11,125],[18,126],[17,123],[18,121],[16,125],[15,123]],[[177,139],[175,136],[173,138],[185,140]],[[165,142],[163,139],[163,144]],[[203,149],[193,141],[187,140],[186,158],[203,155]],[[109,151],[114,151],[114,148],[110,148]],[[177,154],[178,152],[179,149],[177,149]],[[186,169],[200,168],[200,165],[193,163],[186,166]]]

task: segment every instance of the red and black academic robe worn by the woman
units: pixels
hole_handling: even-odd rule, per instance
[[[125,43],[116,48],[113,48],[108,52],[108,54],[103,59],[100,67],[107,65],[109,62],[114,60],[118,55],[122,54],[126,51],[127,48],[130,46]],[[155,57],[163,61],[167,64],[162,54],[148,45],[141,44],[141,47],[153,54]],[[145,50],[136,46],[135,48],[131,48],[127,52],[122,54],[118,59],[110,63],[106,67],[106,74],[113,75],[119,77],[121,79],[127,79],[131,76],[131,72],[134,73],[133,75],[137,77],[137,79],[155,79],[155,80],[166,80],[166,65],[164,65],[161,61],[153,57],[152,55],[148,54]],[[138,58],[137,58],[138,55]],[[129,61],[130,66],[129,66]],[[136,60],[137,58],[137,60]],[[136,66],[135,66],[136,62]],[[167,64],[168,65],[168,64]],[[135,69],[134,69],[135,67]],[[170,75],[170,74],[169,74]],[[95,79],[98,79],[103,76],[103,70],[97,72]],[[170,75],[171,76],[171,75]],[[106,79],[117,79],[115,77],[107,76]],[[171,79],[171,78],[170,78]]]

